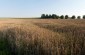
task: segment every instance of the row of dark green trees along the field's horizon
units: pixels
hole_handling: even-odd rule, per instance
[[[68,15],[61,15],[61,16],[59,16],[59,15],[56,15],[56,14],[42,14],[41,15],[41,18],[42,19],[81,19],[81,16],[75,16],[75,15],[73,15],[72,17],[69,17]],[[82,17],[83,19],[85,19],[85,15],[83,15],[83,17]]]

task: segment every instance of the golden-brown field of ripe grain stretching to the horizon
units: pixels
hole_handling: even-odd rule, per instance
[[[85,55],[85,20],[0,19],[0,55]]]

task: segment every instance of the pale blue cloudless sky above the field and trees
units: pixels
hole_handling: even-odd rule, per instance
[[[0,17],[85,15],[85,0],[0,0]]]

